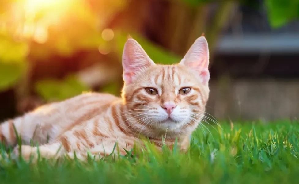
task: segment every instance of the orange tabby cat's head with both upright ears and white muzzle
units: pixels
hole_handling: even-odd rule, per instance
[[[123,49],[122,97],[131,126],[143,135],[178,136],[195,130],[209,96],[209,49],[204,36],[174,65],[155,64],[132,38]]]

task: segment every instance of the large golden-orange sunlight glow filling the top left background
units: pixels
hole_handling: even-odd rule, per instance
[[[46,57],[42,52],[70,56],[78,49],[91,48],[108,54],[111,48],[107,45],[112,44],[109,41],[115,33],[103,27],[109,12],[118,10],[118,2],[123,0],[112,1],[116,4],[109,1],[106,8],[106,1],[91,4],[86,0],[17,0],[5,10],[5,16],[0,16],[0,29],[14,40],[44,44],[44,50],[31,44],[32,57]]]

